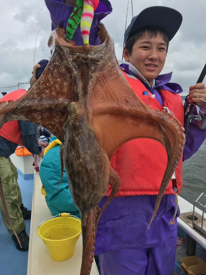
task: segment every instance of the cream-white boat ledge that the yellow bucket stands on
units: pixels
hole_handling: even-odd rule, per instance
[[[60,273],[61,275],[79,275],[82,262],[82,234],[77,241],[75,253],[70,259],[62,262],[52,260],[47,247],[37,235],[37,226],[49,217],[51,217],[51,213],[41,194],[39,172],[35,171],[27,275],[56,275]],[[95,261],[90,274],[99,275]]]

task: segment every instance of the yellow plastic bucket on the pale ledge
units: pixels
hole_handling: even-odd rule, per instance
[[[37,233],[49,250],[51,259],[64,261],[74,255],[82,228],[79,218],[71,217],[69,213],[59,216],[39,224]]]

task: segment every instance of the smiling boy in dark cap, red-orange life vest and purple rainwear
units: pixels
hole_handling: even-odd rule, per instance
[[[179,95],[182,88],[176,83],[169,83],[171,73],[159,75],[165,64],[169,41],[181,23],[182,15],[169,7],[149,7],[143,10],[132,19],[125,31],[125,62],[121,62],[120,67],[145,104],[153,109],[166,109],[183,124],[184,110]],[[203,83],[190,86],[187,97],[190,102],[201,106],[197,94],[206,95]],[[205,129],[196,127],[195,131],[188,132],[187,137],[201,131],[201,139],[196,141],[198,145],[189,144],[187,140],[190,141],[190,138],[186,140],[186,158],[201,146],[206,137]],[[192,152],[189,152],[188,145]],[[178,194],[182,187],[182,160],[176,168],[175,178],[167,186],[155,219],[147,229],[166,164],[165,149],[150,139],[130,140],[111,158],[111,166],[121,178],[121,187],[103,211],[97,228],[94,252],[99,255],[101,275],[173,274],[176,219],[179,216],[174,201],[175,192]],[[100,207],[109,193],[108,190]],[[175,223],[169,224],[173,220]]]

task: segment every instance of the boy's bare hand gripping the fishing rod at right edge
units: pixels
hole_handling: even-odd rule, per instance
[[[191,85],[189,88],[189,95],[187,97],[189,102],[194,102],[199,106],[202,106],[203,101],[206,98],[206,88],[205,88],[205,84],[203,82],[201,83],[197,83],[195,85]],[[202,100],[200,100],[197,96],[201,94],[204,95],[205,97],[201,97]]]

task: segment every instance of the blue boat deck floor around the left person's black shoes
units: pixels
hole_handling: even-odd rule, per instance
[[[31,209],[33,179],[24,180],[19,176],[18,183],[21,189],[21,195],[24,206]],[[30,233],[30,220],[25,220],[26,232]],[[0,215],[0,274],[1,275],[26,275],[28,251],[19,251],[9,235]]]

